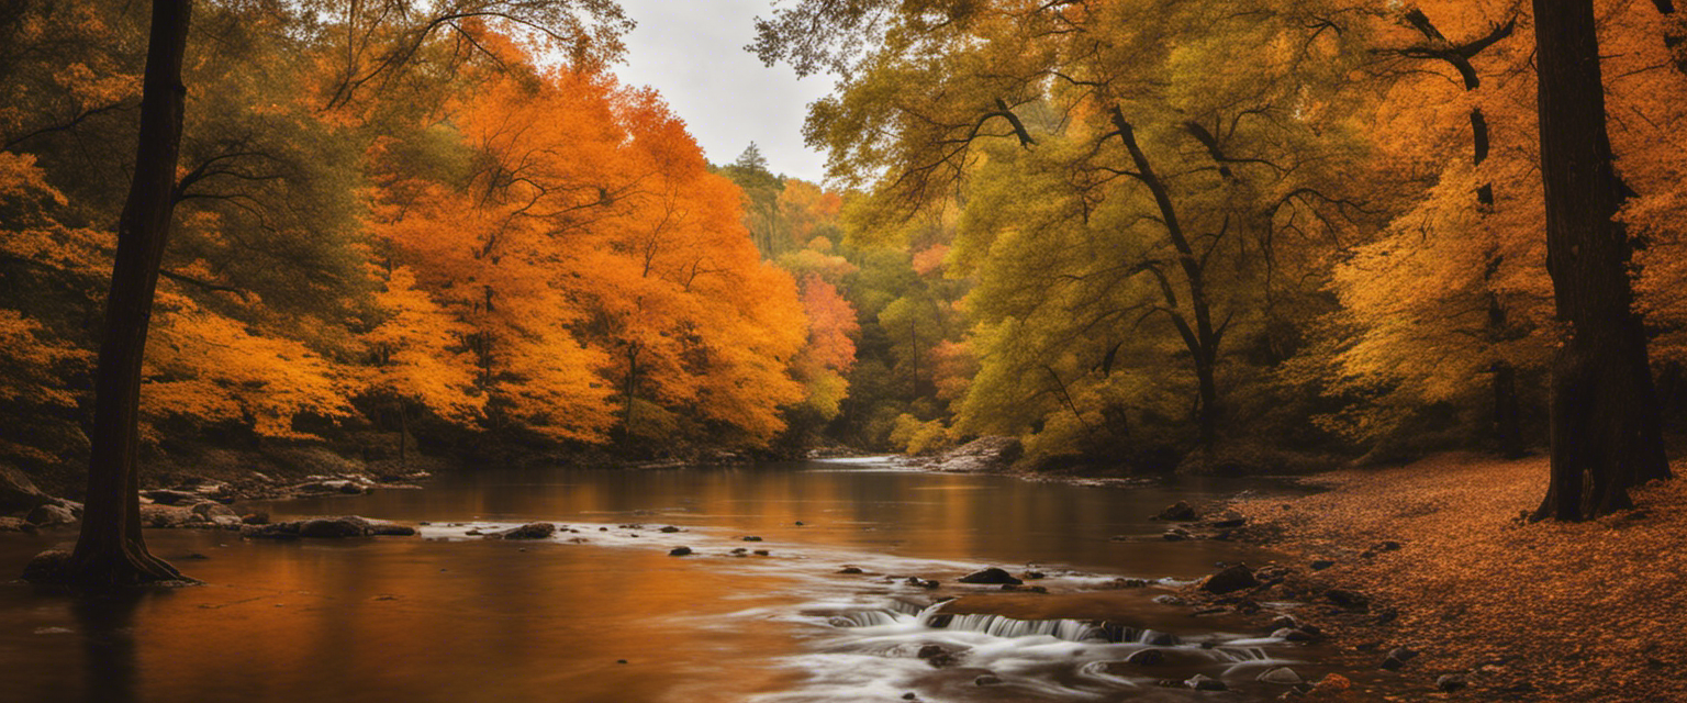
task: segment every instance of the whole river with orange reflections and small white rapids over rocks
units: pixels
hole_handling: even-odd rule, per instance
[[[294,543],[155,529],[154,553],[206,585],[76,598],[0,583],[0,701],[1215,700],[1156,684],[1191,673],[1238,688],[1216,700],[1270,700],[1282,688],[1257,674],[1284,663],[1311,674],[1316,651],[1152,600],[1216,561],[1269,558],[1164,541],[1147,519],[1242,487],[1080,487],[855,459],[477,470],[423,491],[236,506],[430,524],[422,538]],[[530,521],[567,529],[472,534]],[[0,534],[0,575],[73,538]],[[676,546],[693,555],[670,556]],[[1051,595],[955,583],[982,566],[1041,572],[1027,583]],[[1115,577],[1166,582],[1108,590]],[[1080,592],[1093,602],[1063,595]],[[945,612],[960,604],[978,614]],[[994,604],[1021,620],[992,617]],[[1097,612],[1064,615],[1129,627],[1029,620],[1073,607]],[[1120,664],[1174,641],[1169,668]],[[919,659],[928,644],[953,661]]]

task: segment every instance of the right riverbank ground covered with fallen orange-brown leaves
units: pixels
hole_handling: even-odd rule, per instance
[[[1346,627],[1345,646],[1407,646],[1422,656],[1402,676],[1469,683],[1429,696],[1687,701],[1687,480],[1640,487],[1636,509],[1576,524],[1520,519],[1545,494],[1545,457],[1442,455],[1307,482],[1328,491],[1230,507],[1275,550],[1334,561],[1319,582],[1368,595],[1372,612],[1399,610]],[[1399,548],[1368,550],[1385,541]],[[1353,661],[1377,666],[1372,647]]]

